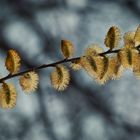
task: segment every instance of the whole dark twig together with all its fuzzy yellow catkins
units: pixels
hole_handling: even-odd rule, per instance
[[[135,31],[123,35],[123,47],[120,29],[116,26],[108,30],[104,44],[107,51],[98,44],[91,44],[80,57],[72,58],[75,52],[74,45],[69,40],[61,40],[61,52],[64,56],[62,61],[51,64],[43,64],[23,72],[20,72],[21,58],[17,51],[11,49],[7,52],[5,66],[9,75],[0,79],[0,106],[13,108],[16,105],[17,92],[12,83],[5,80],[19,76],[19,84],[25,93],[33,92],[38,87],[39,76],[37,70],[53,67],[50,73],[52,86],[58,90],[65,90],[70,83],[70,70],[64,63],[69,63],[72,70],[84,69],[90,77],[99,84],[104,84],[111,79],[119,79],[125,69],[131,69],[137,78],[140,78],[140,26]]]

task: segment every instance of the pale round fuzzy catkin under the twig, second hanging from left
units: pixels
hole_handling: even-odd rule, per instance
[[[39,82],[39,76],[36,72],[28,72],[22,75],[19,79],[19,83],[22,90],[26,93],[33,92],[37,89]]]

